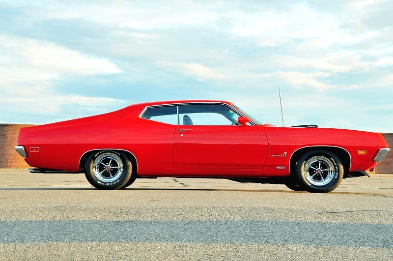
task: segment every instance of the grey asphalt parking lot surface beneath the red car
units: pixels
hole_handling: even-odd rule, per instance
[[[0,256],[37,259],[393,260],[393,175],[328,194],[226,179],[137,179],[0,170]]]

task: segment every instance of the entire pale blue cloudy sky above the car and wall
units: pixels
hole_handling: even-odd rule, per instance
[[[393,132],[393,1],[0,0],[0,123],[172,99]]]

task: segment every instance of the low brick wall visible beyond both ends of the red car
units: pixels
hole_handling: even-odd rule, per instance
[[[23,157],[15,151],[14,146],[18,138],[19,129],[24,124],[0,124],[0,169],[28,168]],[[384,160],[375,167],[375,174],[393,174],[393,133],[382,134],[391,150]]]

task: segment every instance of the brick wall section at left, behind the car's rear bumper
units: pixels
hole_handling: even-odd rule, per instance
[[[0,124],[0,169],[23,169],[28,164],[14,149],[18,139],[19,129],[24,124]]]

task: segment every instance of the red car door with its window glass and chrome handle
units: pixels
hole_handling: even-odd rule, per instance
[[[180,105],[174,168],[197,176],[260,175],[268,149],[265,131],[237,125],[238,116],[225,104]]]

